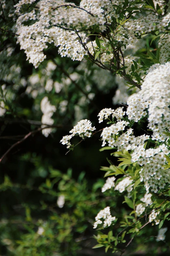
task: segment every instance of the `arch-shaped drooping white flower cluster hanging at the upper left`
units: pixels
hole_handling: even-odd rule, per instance
[[[46,43],[59,46],[61,56],[70,57],[72,60],[82,60],[86,53],[74,31],[65,31],[54,26],[47,29],[40,21],[31,26],[19,26],[17,33],[20,34],[17,42],[20,43],[21,49],[25,50],[27,60],[29,59],[35,68],[46,58],[43,53],[43,49],[48,47]],[[82,43],[85,43],[85,34],[79,33],[79,36]]]

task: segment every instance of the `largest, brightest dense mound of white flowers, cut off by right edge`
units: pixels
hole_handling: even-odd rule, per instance
[[[164,141],[167,136],[163,132],[170,127],[170,62],[154,66],[146,75],[141,89],[144,100],[152,99],[148,108],[148,127],[153,130],[152,137]]]

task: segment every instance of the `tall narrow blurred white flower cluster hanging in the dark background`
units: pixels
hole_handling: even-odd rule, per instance
[[[56,107],[54,105],[50,104],[50,101],[47,96],[45,96],[41,101],[41,111],[43,112],[42,115],[42,128],[48,127],[48,125],[53,125],[54,120],[51,118],[53,113],[56,111]],[[45,137],[48,137],[49,134],[53,131],[52,128],[45,128],[42,130],[42,134],[44,134]]]

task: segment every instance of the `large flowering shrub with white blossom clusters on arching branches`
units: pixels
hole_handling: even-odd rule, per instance
[[[4,1],[2,8],[6,8]],[[169,220],[170,207],[169,3],[164,0],[82,0],[76,5],[63,0],[20,0],[14,8],[10,14],[15,20],[13,32],[4,31],[15,34],[17,43],[35,68],[45,63],[50,47],[58,47],[61,57],[86,60],[89,65],[95,64],[115,75],[118,82],[113,103],[124,106],[104,108],[97,115],[99,123],[103,125],[107,120],[108,126],[93,132],[96,128],[90,120],[78,120],[71,135],[65,135],[60,141],[70,151],[76,146],[70,143],[75,135],[81,137],[79,144],[101,132],[101,151],[113,150],[111,157],[120,162],[116,166],[111,158],[109,167],[102,166],[105,177],[111,177],[106,179],[101,190],[126,203],[127,214],[119,216],[111,206],[100,210],[93,224],[93,228],[99,230],[95,236],[98,244],[93,248],[105,247],[106,252],[110,250],[122,255],[135,238],[145,237],[143,230],[150,223],[152,226],[159,224],[155,240],[163,241],[167,228],[162,226]],[[155,48],[151,47],[153,42]],[[7,54],[12,51],[8,47]],[[54,62],[48,62],[47,73],[48,69],[55,70],[57,59]],[[67,71],[63,73],[88,102],[93,102],[95,95],[89,93],[90,85],[86,84],[84,92],[75,82],[74,73],[72,76]],[[29,81],[32,86],[30,91],[27,87],[27,93],[32,92],[36,98],[38,90],[35,92],[32,87],[39,78],[35,75],[34,79],[29,77]],[[53,89],[60,93],[64,88],[61,81],[53,82],[50,74],[43,82],[47,94]],[[1,109],[7,105],[3,90],[6,86],[1,90]],[[61,115],[67,104],[66,99],[60,101]],[[45,95],[40,108],[43,116],[39,131],[47,137],[54,131],[52,115],[57,109]],[[5,114],[5,111],[1,112]],[[136,136],[143,123],[147,130]],[[63,195],[57,204],[62,208]],[[43,234],[43,230],[40,229],[38,234]],[[124,243],[125,246],[121,245]]]

